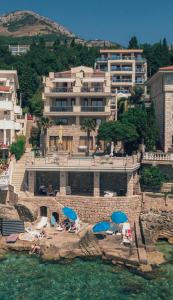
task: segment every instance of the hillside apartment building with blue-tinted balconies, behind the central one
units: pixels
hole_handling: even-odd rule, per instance
[[[110,73],[111,93],[128,97],[134,86],[143,86],[147,80],[147,62],[141,49],[100,50],[96,69]]]

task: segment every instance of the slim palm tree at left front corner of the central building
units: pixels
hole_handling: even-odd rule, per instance
[[[46,136],[47,136],[47,129],[53,126],[54,122],[47,117],[42,117],[38,121],[38,127],[41,130],[40,134],[40,147],[42,150],[42,155],[46,155]]]

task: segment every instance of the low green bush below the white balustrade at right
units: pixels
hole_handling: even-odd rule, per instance
[[[168,177],[159,167],[144,167],[141,172],[141,184],[150,188],[160,188]]]

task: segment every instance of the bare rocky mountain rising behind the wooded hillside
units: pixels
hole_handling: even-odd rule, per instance
[[[34,36],[59,36],[75,39],[77,43],[87,46],[118,47],[117,43],[104,40],[84,40],[77,37],[64,26],[41,16],[33,11],[14,11],[0,16],[0,36],[21,38]]]

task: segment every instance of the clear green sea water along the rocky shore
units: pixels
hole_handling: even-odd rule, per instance
[[[173,300],[173,246],[168,263],[143,275],[101,260],[42,262],[25,254],[0,261],[0,300]]]

